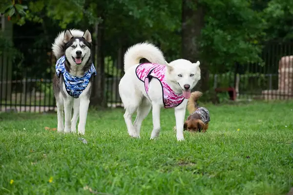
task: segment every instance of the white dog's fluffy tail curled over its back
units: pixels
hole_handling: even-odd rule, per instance
[[[124,55],[124,71],[138,64],[140,59],[147,59],[151,63],[165,64],[162,51],[152,43],[138,43],[129,47]]]

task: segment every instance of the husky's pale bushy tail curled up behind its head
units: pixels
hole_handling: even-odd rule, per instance
[[[83,31],[77,29],[70,29],[70,32],[73,37],[83,37],[84,35]],[[52,44],[52,51],[57,59],[65,55],[63,42],[64,33],[65,31],[60,32],[58,36],[55,38],[54,43]]]

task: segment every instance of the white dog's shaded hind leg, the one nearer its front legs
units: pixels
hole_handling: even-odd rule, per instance
[[[142,122],[146,118],[146,116],[148,115],[150,109],[151,109],[151,103],[146,98],[144,98],[142,100],[142,103],[137,108],[137,116],[136,116],[135,121],[133,123],[133,125],[136,129],[136,134],[138,135],[138,137],[140,137],[140,129],[142,126]]]

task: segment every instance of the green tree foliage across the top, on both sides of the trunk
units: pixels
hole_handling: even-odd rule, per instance
[[[1,12],[14,22],[41,23],[50,30],[47,34],[57,33],[51,29],[60,31],[103,23],[106,56],[116,55],[118,47],[149,40],[160,44],[168,60],[181,57],[181,0],[172,3],[169,0],[5,0],[4,3]],[[235,62],[259,62],[264,40],[293,38],[292,0],[198,0],[197,3],[205,8],[205,25],[197,40],[200,56],[211,72],[227,71]],[[196,12],[197,3],[189,0],[188,6]]]

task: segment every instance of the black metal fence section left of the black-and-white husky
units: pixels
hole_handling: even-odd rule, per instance
[[[24,41],[25,42],[25,41]],[[0,111],[43,112],[55,108],[50,48],[18,47],[0,55]]]

